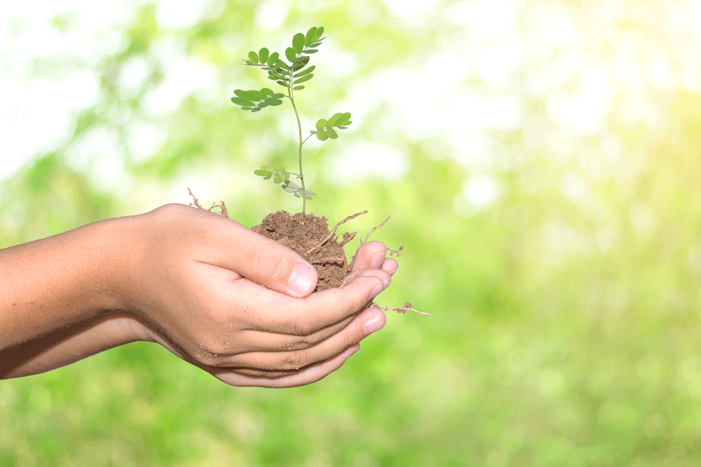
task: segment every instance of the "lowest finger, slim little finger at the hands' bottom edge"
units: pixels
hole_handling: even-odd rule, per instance
[[[320,379],[326,377],[330,373],[338,370],[343,365],[346,359],[355,354],[360,348],[360,344],[356,344],[342,354],[331,358],[320,365],[307,368],[304,371],[295,373],[294,375],[284,376],[279,378],[264,378],[264,377],[250,377],[247,375],[241,375],[236,372],[219,372],[214,374],[217,379],[222,380],[226,384],[231,384],[231,386],[257,386],[257,387],[268,387],[268,388],[289,388],[295,386],[304,386],[305,384],[311,384],[317,382]]]

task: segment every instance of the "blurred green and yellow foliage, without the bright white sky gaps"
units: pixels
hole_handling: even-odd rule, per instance
[[[251,174],[263,160],[285,163],[295,141],[276,114],[252,118],[229,102],[234,85],[260,84],[240,58],[324,25],[358,57],[358,69],[329,79],[320,65],[307,92],[315,97],[300,103],[311,118],[332,115],[329,103],[348,98],[355,81],[421,63],[465,34],[435,15],[412,25],[374,0],[314,4],[313,13],[292,4],[284,26],[270,30],[256,25],[257,2],[208,7],[181,29],[159,24],[155,4],[136,5],[121,46],[91,65],[97,102],[76,113],[65,141],[2,182],[0,246],[184,201],[193,180],[204,180],[213,198],[197,193],[200,201],[225,200],[245,225],[298,209]],[[0,382],[0,466],[700,463],[701,97],[641,77],[653,123],[621,110],[631,100],[625,93],[596,132],[568,133],[552,113],[555,97],[580,84],[578,67],[615,62],[631,43],[669,59],[673,71],[681,66],[676,51],[686,38],[658,19],[683,4],[614,1],[606,5],[618,13],[600,14],[602,5],[544,1],[519,11],[526,55],[505,92],[522,116],[518,127],[489,134],[486,167],[455,157],[461,148],[441,137],[382,127],[383,105],[365,121],[354,118],[352,137],[403,148],[409,169],[400,179],[335,185],[322,168],[346,141],[308,158],[306,172],[323,193],[316,214],[335,220],[369,209],[354,221],[359,233],[392,216],[373,238],[403,244],[404,255],[380,301],[414,299],[435,316],[388,315],[341,370],[296,389],[231,388],[145,343]],[[358,8],[371,19],[359,20]],[[539,42],[536,20],[551,11],[576,19],[583,46]],[[67,33],[80,27],[67,17],[50,24]],[[168,50],[216,69],[217,81],[209,93],[158,110],[154,92],[172,74]],[[50,60],[54,71],[80,66]],[[558,76],[562,60],[575,67],[572,80],[531,92],[534,77]],[[122,75],[135,63],[146,64],[145,78],[125,87]],[[475,77],[460,86],[493,90]],[[139,125],[165,135],[146,155],[130,139]],[[100,132],[123,161],[124,185],[114,190],[94,165],[70,162],[76,145]],[[484,174],[498,196],[475,206],[465,190]]]

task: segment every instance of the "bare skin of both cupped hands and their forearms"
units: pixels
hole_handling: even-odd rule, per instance
[[[311,280],[295,290],[298,265]],[[233,386],[309,384],[384,326],[367,305],[397,267],[368,242],[355,279],[312,294],[301,256],[218,214],[168,204],[92,223],[0,250],[0,377],[148,341]]]

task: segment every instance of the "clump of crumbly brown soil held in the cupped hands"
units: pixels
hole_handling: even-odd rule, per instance
[[[348,264],[343,245],[350,242],[355,233],[344,233],[339,242],[339,235],[336,234],[338,225],[329,231],[329,223],[324,216],[301,213],[290,216],[287,211],[278,211],[268,214],[260,225],[254,225],[251,230],[297,251],[311,263],[319,275],[314,291],[319,292],[340,287],[343,279],[351,274],[352,267]]]

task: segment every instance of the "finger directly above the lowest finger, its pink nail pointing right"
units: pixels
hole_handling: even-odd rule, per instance
[[[358,344],[368,335],[383,328],[385,323],[385,314],[380,309],[369,308],[353,319],[339,333],[308,349],[257,351],[237,354],[226,358],[226,367],[237,372],[240,372],[240,369],[254,370],[262,372],[264,376],[268,377],[272,376],[268,375],[269,372],[299,372],[304,368],[318,365],[335,355],[341,354],[348,347]],[[224,365],[217,366],[221,368]]]

